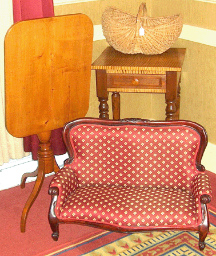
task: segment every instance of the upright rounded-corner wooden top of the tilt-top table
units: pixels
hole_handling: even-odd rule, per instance
[[[84,14],[21,21],[5,37],[6,127],[25,137],[89,108],[93,24]]]

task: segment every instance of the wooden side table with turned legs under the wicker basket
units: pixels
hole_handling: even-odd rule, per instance
[[[120,119],[119,92],[144,92],[164,93],[166,121],[179,119],[185,52],[185,48],[170,48],[161,55],[128,55],[107,47],[91,64],[96,71],[99,118],[109,119],[109,92],[113,92],[113,119]]]

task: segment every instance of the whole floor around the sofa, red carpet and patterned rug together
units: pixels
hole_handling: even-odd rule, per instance
[[[211,184],[215,174],[209,173]],[[211,229],[204,253],[198,250],[198,236],[189,232],[154,232],[145,234],[119,234],[75,224],[60,225],[58,242],[51,239],[47,220],[50,196],[47,194],[51,177],[45,179],[41,193],[27,218],[26,232],[19,230],[23,206],[34,183],[0,192],[0,255],[22,256],[195,256],[216,255],[216,201],[210,204]],[[216,187],[213,187],[213,195]]]

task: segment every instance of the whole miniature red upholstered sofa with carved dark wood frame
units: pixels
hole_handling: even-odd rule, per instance
[[[117,232],[209,231],[205,129],[189,121],[82,118],[63,129],[69,159],[51,181],[49,222]]]

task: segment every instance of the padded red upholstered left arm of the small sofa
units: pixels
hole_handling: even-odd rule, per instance
[[[55,214],[57,216],[60,215],[61,208],[66,197],[75,191],[77,187],[77,177],[70,166],[64,166],[57,173],[55,173],[50,183],[49,194],[52,196],[58,195],[55,205]]]

